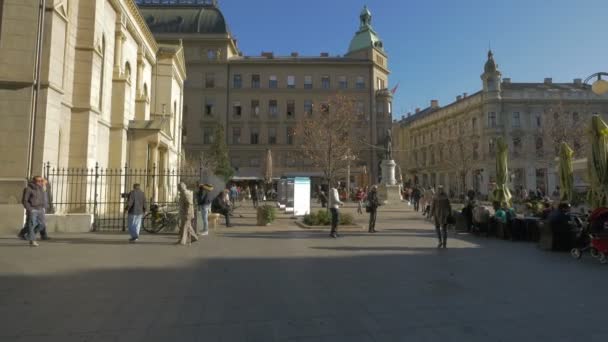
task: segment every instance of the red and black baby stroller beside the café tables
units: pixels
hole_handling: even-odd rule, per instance
[[[608,263],[608,208],[598,208],[591,213],[587,229],[583,232],[580,247],[573,248],[570,254],[580,259],[584,252],[598,259],[600,263]]]

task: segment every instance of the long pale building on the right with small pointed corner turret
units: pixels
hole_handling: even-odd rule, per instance
[[[608,116],[608,97],[593,94],[580,79],[511,82],[502,78],[491,51],[481,80],[478,92],[443,107],[432,100],[394,124],[404,178],[423,186],[444,185],[454,194],[465,189],[487,194],[496,177],[496,141],[502,137],[509,146],[510,187],[553,192],[559,183],[556,143],[548,133],[555,128],[547,126],[559,121],[584,132],[591,115]]]

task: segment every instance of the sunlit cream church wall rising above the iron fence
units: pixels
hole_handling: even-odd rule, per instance
[[[181,154],[181,42],[155,40],[133,0],[42,3],[0,1],[0,214],[11,229],[25,179],[46,162],[177,167]]]

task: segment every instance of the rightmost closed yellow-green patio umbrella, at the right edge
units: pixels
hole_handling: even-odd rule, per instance
[[[608,125],[599,115],[591,118],[590,139],[588,200],[592,209],[597,209],[608,206]]]

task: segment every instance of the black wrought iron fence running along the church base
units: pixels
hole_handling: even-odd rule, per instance
[[[148,207],[177,207],[177,185],[193,189],[203,177],[203,168],[149,169],[51,168],[45,165],[56,214],[92,214],[95,231],[125,231],[127,194],[140,184]]]

